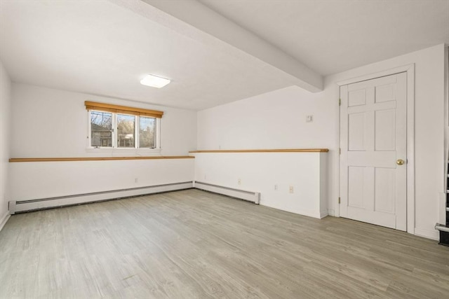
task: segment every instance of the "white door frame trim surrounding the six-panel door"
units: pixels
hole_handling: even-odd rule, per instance
[[[403,67],[396,67],[380,71],[374,74],[358,76],[344,81],[337,82],[338,97],[342,85],[348,85],[361,81],[367,81],[379,77],[390,76],[399,73],[407,74],[407,232],[415,235],[415,64],[407,64]],[[338,107],[338,148],[340,148],[341,129],[340,129],[340,106]],[[340,196],[340,155],[338,155],[338,195]],[[338,216],[340,216],[340,204],[338,207]]]

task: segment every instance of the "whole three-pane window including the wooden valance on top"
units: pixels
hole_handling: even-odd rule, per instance
[[[162,111],[85,102],[91,148],[160,148]]]

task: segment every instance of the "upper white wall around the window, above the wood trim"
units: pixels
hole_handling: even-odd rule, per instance
[[[195,111],[16,83],[13,83],[12,93],[15,115],[11,124],[12,158],[105,156],[104,152],[86,151],[86,100],[164,111],[160,154],[187,155],[196,148]],[[117,149],[106,155],[136,153]]]

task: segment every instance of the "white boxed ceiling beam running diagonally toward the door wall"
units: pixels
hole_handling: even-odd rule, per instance
[[[263,62],[264,69],[273,76],[281,76],[304,90],[323,90],[323,77],[316,71],[199,1],[109,1],[246,62]]]

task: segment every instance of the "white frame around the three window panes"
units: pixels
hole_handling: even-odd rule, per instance
[[[140,116],[135,116],[133,114],[128,113],[116,113],[116,112],[107,112],[112,113],[112,147],[109,146],[91,146],[91,111],[96,112],[107,112],[100,110],[88,110],[87,111],[87,143],[86,143],[86,151],[89,153],[110,153],[114,151],[126,152],[132,151],[137,153],[160,153],[161,152],[161,118],[156,118],[156,140],[155,140],[155,148],[140,148],[139,147],[139,118]],[[134,116],[135,118],[135,126],[134,126],[134,147],[133,148],[125,148],[119,147],[117,144],[117,114],[124,116]],[[145,118],[151,118],[151,116],[143,116]]]

